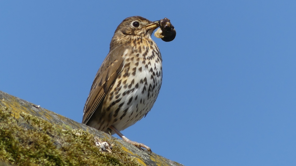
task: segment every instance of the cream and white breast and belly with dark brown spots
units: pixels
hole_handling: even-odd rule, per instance
[[[153,40],[141,40],[142,46],[126,50],[123,71],[104,100],[106,122],[99,130],[113,125],[122,131],[150,111],[162,81],[161,53]]]

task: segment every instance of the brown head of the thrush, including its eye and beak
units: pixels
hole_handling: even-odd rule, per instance
[[[148,38],[151,39],[153,31],[159,27],[159,21],[150,21],[140,16],[127,17],[116,28],[110,43],[113,45],[124,43],[130,39]]]

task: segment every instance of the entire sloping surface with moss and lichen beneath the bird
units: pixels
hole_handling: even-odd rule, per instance
[[[113,144],[112,153],[102,152],[94,137]],[[0,161],[21,166],[182,165],[2,91]]]

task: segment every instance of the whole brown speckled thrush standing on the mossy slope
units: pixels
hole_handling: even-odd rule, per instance
[[[83,110],[82,123],[117,134],[139,148],[120,131],[146,117],[159,94],[162,58],[151,39],[159,21],[140,16],[124,19],[116,28],[110,50],[99,68]]]

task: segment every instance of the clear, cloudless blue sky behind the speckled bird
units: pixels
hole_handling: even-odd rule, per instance
[[[126,17],[167,17],[154,36],[160,94],[123,131],[189,165],[296,164],[295,1],[1,1],[0,90],[82,121],[95,74]]]

